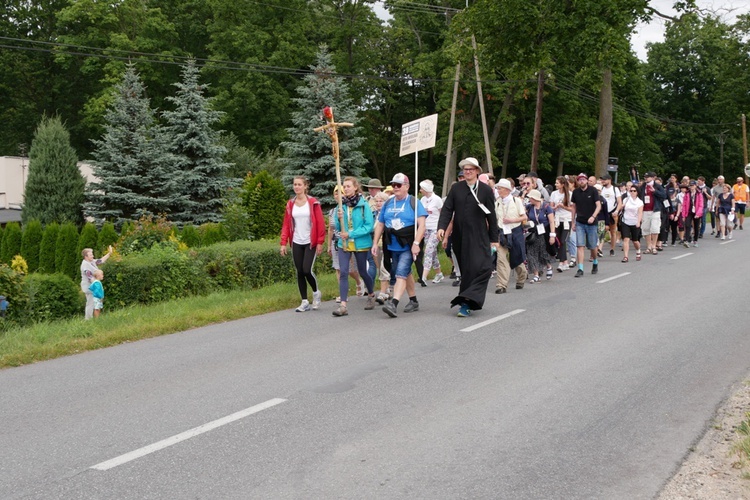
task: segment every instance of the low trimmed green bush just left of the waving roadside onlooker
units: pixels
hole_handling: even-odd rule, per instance
[[[32,322],[71,318],[82,313],[86,298],[81,287],[61,273],[26,277],[26,319]]]

